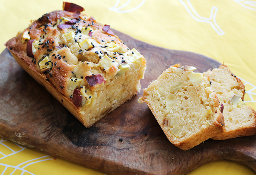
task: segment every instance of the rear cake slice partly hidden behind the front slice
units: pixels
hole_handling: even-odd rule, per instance
[[[244,104],[244,84],[226,65],[203,73],[211,81],[223,105],[225,131],[212,137],[215,140],[231,139],[256,134],[256,112]]]

